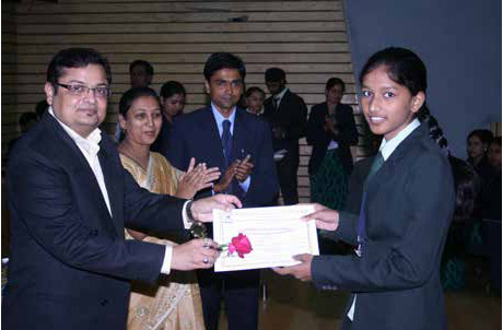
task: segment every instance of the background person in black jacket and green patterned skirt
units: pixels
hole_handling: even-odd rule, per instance
[[[349,176],[353,168],[351,145],[358,143],[358,130],[351,106],[341,104],[346,84],[330,78],[326,101],[313,106],[307,121],[307,143],[313,145],[308,164],[311,200],[341,210],[348,198]]]

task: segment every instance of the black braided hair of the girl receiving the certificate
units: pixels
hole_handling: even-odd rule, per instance
[[[426,67],[423,61],[409,49],[388,47],[377,51],[366,61],[360,73],[360,84],[371,71],[384,66],[388,78],[407,87],[412,96],[419,92],[426,94]],[[426,122],[430,128],[430,137],[442,148],[447,149],[447,140],[436,119],[430,114],[426,102],[416,114],[421,122]]]

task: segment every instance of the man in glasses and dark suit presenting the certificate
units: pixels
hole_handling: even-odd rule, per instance
[[[20,139],[7,175],[11,256],[3,329],[126,329],[129,281],[209,268],[217,245],[125,240],[124,226],[184,231],[235,197],[195,202],[140,188],[97,128],[112,81],[94,49],[59,51],[47,71],[50,105]]]

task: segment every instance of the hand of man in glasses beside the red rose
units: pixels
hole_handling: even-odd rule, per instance
[[[210,238],[192,239],[173,247],[172,269],[188,271],[213,267],[219,245]]]

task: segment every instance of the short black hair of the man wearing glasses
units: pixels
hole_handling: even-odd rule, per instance
[[[55,86],[59,78],[63,75],[63,70],[68,68],[85,68],[89,64],[101,66],[105,70],[106,80],[112,84],[112,71],[107,59],[93,48],[67,48],[60,50],[50,60],[47,68],[47,81]]]

